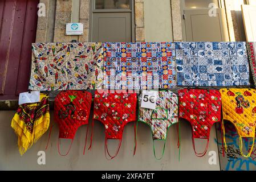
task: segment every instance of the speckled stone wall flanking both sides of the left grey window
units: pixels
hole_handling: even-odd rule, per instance
[[[84,24],[84,35],[66,36],[66,23],[71,23],[72,1],[74,0],[40,0],[46,5],[46,17],[38,18],[36,42],[88,42],[90,0],[80,1],[79,23]],[[145,41],[144,0],[135,0],[136,42]]]

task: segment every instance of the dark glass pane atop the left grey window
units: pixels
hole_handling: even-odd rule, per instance
[[[95,0],[95,9],[131,9],[130,0]]]

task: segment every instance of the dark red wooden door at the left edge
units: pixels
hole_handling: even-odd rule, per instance
[[[13,100],[29,86],[31,43],[39,0],[0,1],[0,100]]]

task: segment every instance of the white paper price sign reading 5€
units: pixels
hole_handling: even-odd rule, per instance
[[[156,109],[156,97],[157,97],[157,91],[143,90],[141,107],[147,108],[147,109]]]

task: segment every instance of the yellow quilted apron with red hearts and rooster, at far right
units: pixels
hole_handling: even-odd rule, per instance
[[[224,131],[224,120],[230,121],[237,129],[239,135],[239,148],[242,156],[249,158],[253,151],[256,124],[256,90],[255,89],[221,89],[222,98],[222,130]],[[243,154],[242,138],[253,138],[253,146],[247,155]]]

